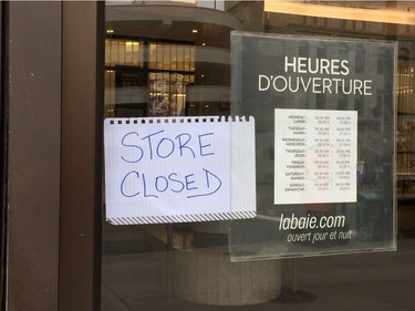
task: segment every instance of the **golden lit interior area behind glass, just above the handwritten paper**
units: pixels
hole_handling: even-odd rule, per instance
[[[195,82],[189,70],[195,46],[145,42],[106,40],[106,116],[185,115],[186,84]],[[149,55],[148,62],[144,54]]]

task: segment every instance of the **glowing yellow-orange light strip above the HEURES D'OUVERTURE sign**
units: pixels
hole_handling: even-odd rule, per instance
[[[266,0],[264,11],[328,19],[415,24],[414,14],[392,8],[363,9],[314,4],[310,2]]]

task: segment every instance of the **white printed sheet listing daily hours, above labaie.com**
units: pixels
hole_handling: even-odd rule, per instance
[[[357,112],[276,110],[274,204],[355,203]]]

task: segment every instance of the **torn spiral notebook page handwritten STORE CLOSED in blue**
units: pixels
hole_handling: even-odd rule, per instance
[[[104,145],[113,225],[256,216],[253,117],[106,118]]]

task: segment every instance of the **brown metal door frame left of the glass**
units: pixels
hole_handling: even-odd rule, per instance
[[[3,310],[100,310],[105,2],[1,10]]]

